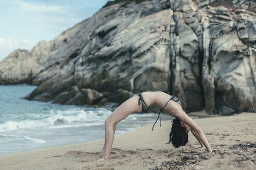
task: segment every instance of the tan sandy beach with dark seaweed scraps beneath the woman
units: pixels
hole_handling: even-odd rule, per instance
[[[199,115],[203,114],[199,112]],[[194,112],[194,115],[196,113]],[[157,115],[156,115],[157,117]],[[196,119],[213,152],[198,150],[189,133],[184,147],[169,141],[171,121],[117,136],[110,160],[98,162],[104,139],[0,157],[0,169],[256,169],[256,114]]]

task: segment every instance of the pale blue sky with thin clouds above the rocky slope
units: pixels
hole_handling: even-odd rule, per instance
[[[31,51],[102,8],[108,0],[0,0],[0,61],[20,48]]]

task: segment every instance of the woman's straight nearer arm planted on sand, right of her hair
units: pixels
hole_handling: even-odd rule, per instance
[[[203,144],[204,147],[206,147],[209,153],[212,152],[212,149],[208,143],[206,136],[203,134],[203,131],[191,118],[187,116],[185,111],[183,111],[182,109],[179,109],[177,110],[174,116],[180,119],[181,121],[183,121],[184,123],[186,123],[187,125],[189,125],[191,130],[194,131],[193,135],[198,139],[198,141],[199,140],[201,141],[201,143]]]

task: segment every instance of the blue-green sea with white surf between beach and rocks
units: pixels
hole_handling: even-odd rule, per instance
[[[25,100],[23,97],[35,88],[26,84],[0,86],[0,157],[104,138],[104,122],[111,109]],[[117,124],[115,136],[153,125],[157,116],[131,114]],[[162,114],[161,119],[172,117]]]

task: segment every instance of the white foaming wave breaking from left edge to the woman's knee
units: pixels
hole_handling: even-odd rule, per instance
[[[105,119],[111,114],[106,109],[97,110],[49,110],[47,115],[31,116],[30,119],[20,121],[6,121],[0,124],[0,132],[9,132],[19,129],[37,129],[37,128],[63,128],[71,126],[92,126],[104,124]]]

